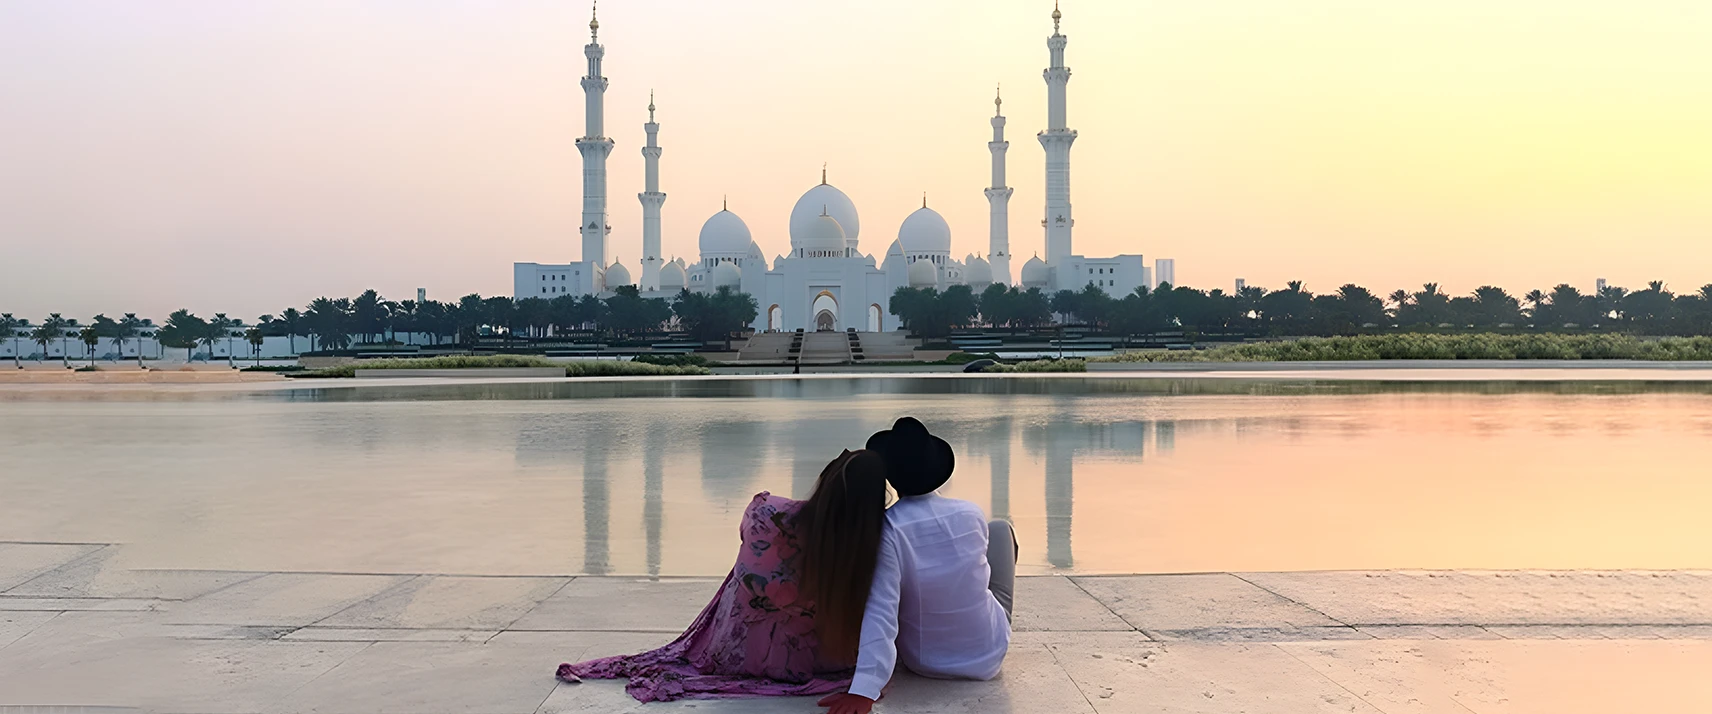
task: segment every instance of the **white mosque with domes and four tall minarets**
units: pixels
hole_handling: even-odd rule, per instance
[[[659,248],[659,212],[666,193],[659,190],[659,123],[654,122],[654,103],[649,99],[649,120],[644,123],[647,146],[642,200],[642,260],[640,274],[632,276],[608,255],[611,226],[606,217],[606,158],[613,140],[604,135],[606,77],[601,60],[606,48],[599,45],[599,22],[591,21],[591,41],[584,46],[589,74],[582,77],[587,99],[587,134],[577,139],[582,152],[582,260],[572,264],[514,264],[515,298],[556,298],[560,295],[611,295],[618,286],[633,284],[647,298],[671,298],[688,288],[692,291],[731,289],[755,296],[762,306],[752,325],[757,330],[887,330],[899,320],[887,305],[899,288],[945,289],[967,284],[976,293],[990,284],[1015,284],[1043,291],[1084,289],[1092,284],[1108,295],[1123,296],[1138,286],[1154,286],[1142,255],[1087,259],[1072,250],[1070,214],[1070,144],[1077,132],[1067,128],[1065,89],[1070,68],[1063,63],[1067,38],[1058,31],[1063,15],[1053,9],[1053,34],[1046,39],[1051,50],[1051,67],[1046,68],[1048,128],[1039,134],[1046,149],[1046,217],[1044,259],[1039,253],[1022,264],[1017,281],[1010,272],[1010,214],[1012,188],[1005,185],[1003,99],[995,98],[993,185],[986,188],[991,207],[988,228],[988,259],[964,255],[952,259],[952,229],[936,211],[921,202],[897,229],[897,238],[885,255],[875,259],[859,248],[861,219],[849,195],[827,183],[825,170],[820,185],[808,188],[791,209],[791,250],[776,255],[770,264],[760,245],[750,235],[748,224],[738,214],[722,209],[702,224],[700,259],[663,259]],[[1171,265],[1161,260],[1161,267]]]

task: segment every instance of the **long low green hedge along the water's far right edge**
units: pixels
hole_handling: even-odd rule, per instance
[[[1347,361],[1347,360],[1712,360],[1712,337],[1618,334],[1387,334],[1233,344],[1202,351],[1125,353],[1094,361]]]

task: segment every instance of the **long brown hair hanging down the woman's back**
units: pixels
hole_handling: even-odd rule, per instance
[[[815,601],[815,634],[827,661],[856,661],[882,524],[885,459],[870,450],[832,459],[796,515],[803,591]]]

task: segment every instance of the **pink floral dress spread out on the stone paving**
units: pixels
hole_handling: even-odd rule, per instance
[[[817,661],[815,604],[798,591],[791,519],[803,502],[762,491],[743,512],[738,562],[712,603],[671,644],[640,654],[560,664],[565,681],[630,678],[639,702],[798,697],[842,692],[851,671]]]

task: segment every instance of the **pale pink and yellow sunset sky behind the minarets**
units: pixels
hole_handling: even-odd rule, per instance
[[[880,253],[921,204],[986,252],[993,87],[1012,252],[1043,248],[1039,0],[606,0],[611,248],[729,195],[769,255],[829,164]],[[1705,0],[1065,0],[1075,250],[1180,283],[1712,283]],[[320,295],[508,295],[580,253],[589,7],[0,3],[0,312],[245,320]],[[1020,265],[1020,260],[1017,262]]]

